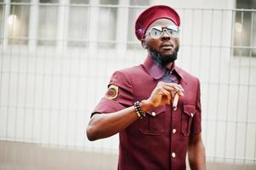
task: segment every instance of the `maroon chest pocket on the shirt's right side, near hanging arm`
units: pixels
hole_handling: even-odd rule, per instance
[[[184,136],[191,134],[191,123],[193,116],[196,114],[196,106],[191,104],[183,104],[183,113],[181,120],[181,132]]]

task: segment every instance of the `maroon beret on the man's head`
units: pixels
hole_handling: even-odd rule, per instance
[[[146,29],[157,19],[169,19],[172,20],[176,26],[180,25],[179,14],[177,14],[174,8],[165,5],[156,5],[146,8],[145,11],[139,15],[135,23],[135,34],[139,41],[144,38]]]

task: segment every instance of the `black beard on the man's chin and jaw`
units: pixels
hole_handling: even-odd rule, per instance
[[[179,48],[177,47],[174,49],[174,54],[160,54],[156,51],[156,49],[151,48],[150,46],[148,46],[148,48],[150,50],[151,58],[162,67],[168,65],[171,62],[174,62],[174,60],[177,59],[179,50]]]

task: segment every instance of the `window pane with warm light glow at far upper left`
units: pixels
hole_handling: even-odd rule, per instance
[[[9,44],[27,43],[26,38],[28,37],[29,14],[29,5],[11,4],[8,18]]]

